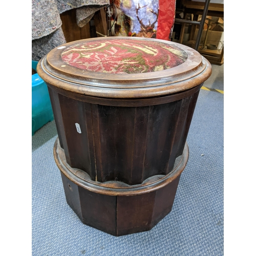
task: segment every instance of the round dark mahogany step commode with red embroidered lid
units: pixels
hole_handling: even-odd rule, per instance
[[[37,72],[70,207],[114,236],[150,230],[172,209],[209,62],[175,42],[101,37],[53,49]]]

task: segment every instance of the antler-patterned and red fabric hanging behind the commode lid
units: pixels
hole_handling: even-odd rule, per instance
[[[139,36],[170,40],[176,0],[110,0],[113,36]]]

